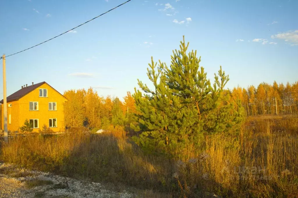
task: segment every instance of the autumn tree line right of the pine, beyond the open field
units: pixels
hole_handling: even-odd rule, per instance
[[[246,116],[297,113],[298,82],[284,85],[260,83],[259,86],[249,86],[247,89],[235,87],[232,90],[234,100],[240,100]]]

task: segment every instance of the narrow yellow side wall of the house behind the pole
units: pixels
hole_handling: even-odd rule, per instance
[[[11,107],[8,107],[9,104],[12,104]],[[18,100],[12,101],[12,102],[7,102],[7,129],[9,131],[18,131],[19,128],[19,104]],[[4,129],[4,105],[1,105],[1,129]],[[9,115],[11,118],[11,122],[9,123]]]

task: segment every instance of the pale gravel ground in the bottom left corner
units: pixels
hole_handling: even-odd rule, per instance
[[[126,191],[105,189],[100,183],[82,182],[52,173],[15,168],[8,163],[0,163],[0,170],[0,197],[137,197]],[[25,177],[15,177],[21,173]],[[51,181],[52,184],[27,188],[26,181],[36,179]]]

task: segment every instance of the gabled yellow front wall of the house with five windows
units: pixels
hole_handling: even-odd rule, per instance
[[[47,97],[39,97],[39,89],[47,89]],[[49,127],[49,119],[57,119],[57,127],[51,128],[54,132],[65,131],[63,103],[66,99],[55,89],[44,83],[29,94],[19,100],[19,122],[22,126],[26,119],[38,119],[38,128],[42,129],[44,125]],[[29,102],[38,102],[38,111],[29,110]],[[49,102],[56,102],[57,110],[49,111]],[[38,132],[38,129],[33,129]]]

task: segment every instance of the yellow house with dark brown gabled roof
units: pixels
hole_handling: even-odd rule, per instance
[[[22,86],[20,90],[7,97],[7,129],[19,131],[28,119],[33,132],[44,125],[54,132],[65,131],[63,103],[67,99],[46,82]],[[4,129],[3,100],[1,123]]]

